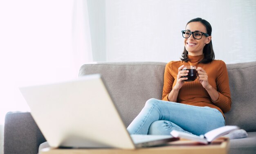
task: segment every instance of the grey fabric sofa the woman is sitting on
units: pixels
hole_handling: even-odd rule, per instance
[[[98,62],[81,66],[79,76],[100,73],[110,90],[126,126],[146,100],[161,99],[163,62]],[[230,154],[256,151],[256,62],[227,64],[231,89],[231,111],[226,125],[238,125],[247,138],[230,141]],[[29,112],[9,112],[4,125],[4,154],[36,154],[45,138]]]

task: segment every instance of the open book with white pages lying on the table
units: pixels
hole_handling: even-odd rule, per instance
[[[205,133],[204,135],[200,135],[200,136],[196,136],[196,135],[185,133],[185,132],[179,132],[176,130],[171,131],[171,135],[173,137],[181,137],[184,139],[198,141],[199,143],[209,144],[209,143],[211,143],[211,141],[219,138],[220,136],[223,136],[233,130],[238,130],[238,129],[239,129],[238,126],[227,125],[227,126],[223,126],[223,127],[211,130],[211,131]]]

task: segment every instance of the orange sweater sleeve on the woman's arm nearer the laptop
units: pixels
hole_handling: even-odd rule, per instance
[[[165,66],[164,70],[164,86],[163,86],[163,93],[162,93],[162,100],[169,101],[168,95],[172,90],[174,77],[171,75],[171,65],[172,62],[169,62]]]

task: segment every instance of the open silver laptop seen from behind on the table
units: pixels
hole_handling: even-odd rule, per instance
[[[20,91],[51,147],[135,149],[177,140],[171,135],[130,135],[99,74]]]

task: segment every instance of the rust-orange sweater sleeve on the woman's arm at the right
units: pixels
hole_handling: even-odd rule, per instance
[[[228,112],[231,108],[231,95],[229,89],[229,76],[227,72],[227,66],[223,61],[220,61],[218,75],[216,78],[216,85],[217,91],[219,92],[219,98],[217,101],[211,101],[224,113]]]

